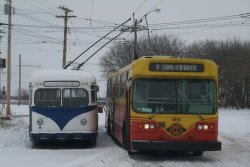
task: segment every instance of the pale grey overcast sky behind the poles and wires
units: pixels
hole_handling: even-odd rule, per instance
[[[55,16],[63,15],[59,6],[73,10],[68,22],[67,61],[83,52],[100,37],[132,17],[136,19],[147,15],[151,34],[173,34],[191,43],[204,39],[225,40],[239,38],[249,40],[250,13],[249,0],[12,0],[13,15],[12,34],[12,94],[18,86],[18,55],[22,55],[22,87],[28,88],[28,80],[35,67],[25,65],[41,65],[40,69],[61,68],[63,19]],[[7,23],[4,15],[5,1],[0,1],[0,22]],[[160,9],[159,13],[152,12]],[[89,21],[91,19],[92,21]],[[206,20],[205,20],[206,19]],[[126,25],[132,25],[132,21]],[[145,26],[145,19],[141,23]],[[0,57],[7,55],[7,28],[1,26],[3,38],[0,43]],[[113,33],[110,37],[118,33]],[[140,31],[138,36],[145,36],[147,31]],[[122,40],[133,39],[130,32],[124,33]],[[96,45],[84,54],[78,62],[88,58],[107,40]],[[118,41],[116,41],[118,42]],[[108,50],[111,43],[96,54],[84,66],[97,77],[101,88],[101,96],[105,96],[106,82],[101,78],[98,66],[99,58]],[[129,55],[128,55],[129,56]],[[1,72],[1,87],[6,85],[6,72]]]

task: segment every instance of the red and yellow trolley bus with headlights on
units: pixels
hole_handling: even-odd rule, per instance
[[[218,151],[217,101],[213,61],[141,57],[108,73],[107,132],[129,153]]]

